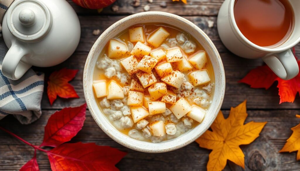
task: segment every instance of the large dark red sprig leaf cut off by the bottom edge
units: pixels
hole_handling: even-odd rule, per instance
[[[47,152],[52,171],[101,170],[117,171],[115,167],[125,155],[109,146],[95,143],[65,143]]]

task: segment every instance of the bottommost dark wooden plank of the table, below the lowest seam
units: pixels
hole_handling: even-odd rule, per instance
[[[21,125],[15,118],[8,116],[0,121],[0,126],[12,131],[25,140],[39,145],[43,140],[44,126],[51,114],[55,111],[43,111],[41,118],[30,124]],[[225,117],[229,111],[223,111]],[[262,130],[260,137],[250,145],[241,146],[245,155],[247,170],[300,170],[300,163],[296,161],[296,152],[278,153],[286,139],[291,135],[291,127],[299,123],[295,117],[298,110],[248,110],[250,121],[265,122],[267,125]],[[125,148],[110,139],[95,123],[89,111],[85,125],[71,142],[95,142],[98,145],[109,145],[128,152],[128,155],[119,163],[120,170],[205,170],[210,150],[199,148],[197,143],[191,143],[181,149],[161,153],[148,154]],[[33,156],[33,149],[0,131],[0,170],[18,170]],[[38,152],[38,163],[41,170],[50,170],[47,156]],[[261,166],[259,169],[255,169]],[[159,169],[160,168],[160,169]],[[226,166],[225,170],[241,170],[235,164]]]

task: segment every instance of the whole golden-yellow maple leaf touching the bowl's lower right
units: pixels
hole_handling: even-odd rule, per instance
[[[208,171],[223,170],[227,160],[245,168],[245,156],[239,146],[253,142],[267,123],[249,122],[244,125],[247,116],[246,101],[231,108],[227,119],[220,111],[211,125],[212,131],[207,130],[196,140],[200,147],[212,150],[207,163]]]

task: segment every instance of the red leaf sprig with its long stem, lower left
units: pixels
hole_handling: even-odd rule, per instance
[[[46,125],[47,128],[45,128],[44,141],[41,146],[56,146],[51,150],[45,150],[40,146],[32,145],[2,127],[0,127],[0,130],[32,146],[35,151],[45,152],[48,155],[53,171],[119,170],[115,165],[126,155],[125,152],[109,146],[98,146],[95,143],[64,143],[74,137],[82,128],[85,120],[85,108],[86,104],[77,108],[64,108],[59,112],[55,112],[49,118]],[[21,171],[38,170],[35,153],[34,157],[21,168]]]

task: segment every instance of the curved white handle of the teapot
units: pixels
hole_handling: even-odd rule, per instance
[[[28,55],[29,52],[16,42],[12,42],[10,49],[5,55],[2,62],[2,73],[7,78],[18,80],[32,66],[23,61],[22,57]]]

